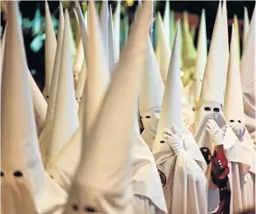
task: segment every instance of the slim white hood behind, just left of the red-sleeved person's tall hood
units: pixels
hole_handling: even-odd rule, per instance
[[[202,79],[207,64],[207,31],[205,21],[205,10],[202,9],[202,16],[200,21],[200,29],[198,33],[198,57],[195,65],[195,71],[193,74],[194,88],[193,88],[193,102],[198,103],[201,88]]]

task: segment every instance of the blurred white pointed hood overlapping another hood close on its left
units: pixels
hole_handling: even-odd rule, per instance
[[[52,126],[53,134],[48,149],[49,161],[58,154],[78,127],[77,102],[75,99],[74,82],[72,80],[72,54],[69,32],[69,16],[67,11],[65,11],[58,92]]]

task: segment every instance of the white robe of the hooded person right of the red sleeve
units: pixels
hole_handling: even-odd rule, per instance
[[[226,127],[224,149],[229,162],[230,173],[230,214],[240,213],[254,207],[254,152],[249,133],[245,130],[244,139],[236,137],[229,126]]]

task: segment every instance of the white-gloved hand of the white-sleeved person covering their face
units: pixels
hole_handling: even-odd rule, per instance
[[[163,138],[165,142],[168,143],[170,147],[175,151],[175,153],[184,151],[184,139],[182,139],[181,134],[179,134],[174,126],[171,128],[171,130],[165,129]]]

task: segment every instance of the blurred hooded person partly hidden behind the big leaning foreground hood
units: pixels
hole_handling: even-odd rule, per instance
[[[79,5],[78,16],[80,13]],[[82,17],[81,17],[82,18]],[[86,48],[87,56],[87,77],[86,85],[79,107],[79,127],[72,134],[72,138],[60,150],[54,161],[49,164],[47,171],[54,177],[54,180],[68,192],[72,178],[76,173],[81,157],[81,135],[82,132],[89,133],[91,125],[100,109],[101,102],[109,84],[108,64],[105,58],[103,39],[100,31],[99,17],[96,14],[94,4],[89,3],[89,40]],[[81,32],[82,36],[83,32]],[[98,63],[100,61],[101,63]],[[90,102],[88,102],[90,100]],[[83,123],[86,118],[86,123]]]

